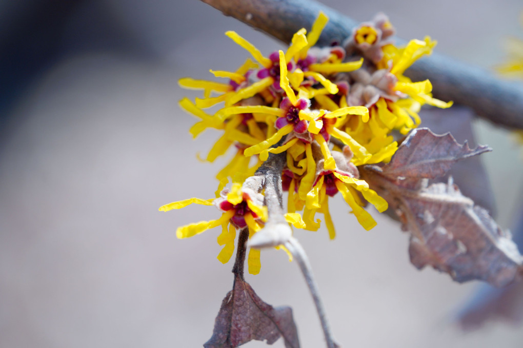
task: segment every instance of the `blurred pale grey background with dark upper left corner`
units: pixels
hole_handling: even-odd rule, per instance
[[[359,21],[384,11],[400,37],[428,34],[437,52],[485,68],[503,61],[504,38],[523,38],[520,0],[324,3]],[[177,102],[197,93],[177,80],[243,62],[226,30],[266,54],[283,47],[196,0],[0,2],[0,346],[197,347],[211,337],[232,262],[216,259],[219,230],[187,240],[174,231],[219,214],[158,207],[211,198],[217,185],[225,160],[196,154],[219,134],[191,139],[194,119]],[[473,128],[477,143],[494,148],[481,157],[497,221],[512,228],[522,149],[505,130]],[[340,345],[521,347],[517,321],[459,328],[479,283],[416,270],[395,222],[374,211],[378,226],[365,232],[336,201],[335,241],[324,229],[296,235]],[[292,306],[303,347],[323,346],[297,264],[276,250],[261,263],[247,281],[268,303]]]

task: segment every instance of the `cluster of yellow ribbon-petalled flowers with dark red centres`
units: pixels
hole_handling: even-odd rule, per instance
[[[339,192],[358,222],[369,230],[376,222],[363,207],[368,202],[383,212],[388,205],[359,179],[358,166],[389,161],[397,149],[395,136],[419,125],[423,105],[451,105],[431,96],[428,80],[412,82],[403,75],[419,57],[431,53],[435,41],[427,37],[396,47],[391,40],[394,28],[379,14],[355,28],[343,47],[316,48],[327,21],[320,13],[309,33],[300,29],[286,52],[268,56],[228,31],[226,36],[252,59],[234,72],[210,71],[225,78],[224,82],[179,80],[182,87],[203,90],[202,98],[194,102],[180,101],[181,108],[199,119],[191,134],[196,137],[207,129],[222,132],[207,160],[214,161],[231,147],[235,154],[217,175],[220,184],[213,203],[192,199],[161,210],[189,203],[217,205],[224,212],[220,219],[180,227],[177,236],[190,237],[222,225],[218,238],[225,245],[218,257],[222,262],[229,260],[234,249],[234,228],[228,230],[228,225],[248,226],[253,234],[266,221],[263,197],[242,191],[241,183],[254,175],[269,153],[286,158],[282,186],[289,192],[288,222],[317,230],[321,221],[315,214],[321,213],[334,238],[328,198]],[[216,111],[205,111],[220,105]],[[233,188],[228,191],[224,187],[230,180]],[[259,254],[252,260],[255,258],[259,264]],[[249,254],[249,270],[251,267],[255,273],[259,271]]]

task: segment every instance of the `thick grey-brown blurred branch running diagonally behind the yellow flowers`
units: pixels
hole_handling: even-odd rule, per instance
[[[318,45],[341,43],[357,22],[313,0],[201,0],[256,29],[289,43],[300,28],[311,28],[319,11],[329,22]],[[429,79],[435,98],[453,100],[497,125],[523,129],[523,84],[507,82],[490,72],[441,55],[425,57],[405,75]]]

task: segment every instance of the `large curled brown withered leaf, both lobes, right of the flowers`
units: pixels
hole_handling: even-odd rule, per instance
[[[450,134],[417,130],[388,165],[359,169],[411,233],[409,253],[418,269],[431,265],[458,282],[477,279],[504,286],[519,277],[523,263],[510,233],[463,196],[452,179],[428,185],[429,178],[443,175],[458,159],[485,150],[461,146]]]

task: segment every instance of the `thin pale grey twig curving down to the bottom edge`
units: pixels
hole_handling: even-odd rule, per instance
[[[334,339],[332,337],[331,328],[328,325],[327,316],[325,315],[325,308],[323,307],[323,303],[320,298],[318,286],[314,280],[314,276],[312,275],[312,267],[311,263],[309,262],[309,258],[307,257],[305,250],[298,242],[298,239],[294,237],[291,237],[289,241],[285,243],[285,247],[289,249],[294,259],[300,265],[301,273],[303,273],[303,276],[305,277],[305,282],[309,287],[312,299],[314,300],[314,305],[316,305],[316,311],[318,312],[318,316],[320,317],[320,321],[322,323],[323,334],[325,335],[327,347],[335,348],[336,344],[334,343]]]

